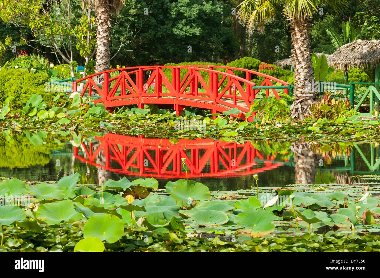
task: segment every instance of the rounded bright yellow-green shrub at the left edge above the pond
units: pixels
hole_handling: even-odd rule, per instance
[[[48,107],[57,106],[65,100],[53,102],[58,92],[45,90],[49,75],[44,72],[28,72],[22,69],[2,69],[0,71],[0,103],[7,97],[13,97],[12,108],[24,107],[33,94],[40,94]]]

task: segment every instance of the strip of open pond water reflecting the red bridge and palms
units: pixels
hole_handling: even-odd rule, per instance
[[[211,191],[288,184],[351,184],[351,176],[380,171],[372,143],[314,143],[161,139],[116,134],[10,132],[0,136],[0,177],[58,181],[75,172],[80,184],[126,176],[192,179]],[[185,159],[182,163],[182,159]]]

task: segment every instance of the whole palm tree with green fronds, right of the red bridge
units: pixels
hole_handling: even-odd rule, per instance
[[[239,4],[237,18],[247,24],[250,34],[255,29],[263,31],[264,25],[273,20],[276,11],[282,9],[283,16],[290,21],[291,39],[294,49],[294,102],[291,105],[291,117],[303,119],[309,114],[309,107],[318,99],[318,92],[311,90],[313,78],[310,53],[310,19],[318,13],[320,6],[330,5],[335,11],[341,11],[346,0],[244,0]],[[282,6],[283,5],[283,6]],[[310,83],[309,83],[310,82]]]

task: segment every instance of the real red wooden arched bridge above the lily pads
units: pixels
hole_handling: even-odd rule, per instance
[[[244,76],[244,78],[238,75]],[[111,77],[110,77],[111,76]],[[97,84],[94,80],[102,78]],[[251,80],[264,77],[260,86]],[[86,76],[73,82],[73,92],[78,83],[84,86],[79,93],[100,96],[95,103],[103,103],[107,109],[122,105],[156,104],[172,108],[177,115],[184,107],[210,109],[211,113],[224,112],[237,108],[233,115],[245,119],[255,96],[260,90],[266,95],[272,91],[279,98],[279,90],[289,94],[289,83],[261,72],[225,66],[141,66],[111,69]],[[281,86],[274,86],[280,83]],[[154,90],[150,87],[154,86]],[[248,120],[252,121],[252,117]]]

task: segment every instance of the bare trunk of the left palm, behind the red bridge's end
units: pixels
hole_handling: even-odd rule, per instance
[[[109,29],[111,24],[109,22],[111,13],[109,8],[111,7],[110,0],[101,0],[101,6],[97,13],[97,51],[95,58],[95,72],[106,71],[109,69],[109,60],[111,58],[110,47],[110,36]],[[103,76],[100,77],[100,80]],[[100,81],[99,80],[99,81]]]

